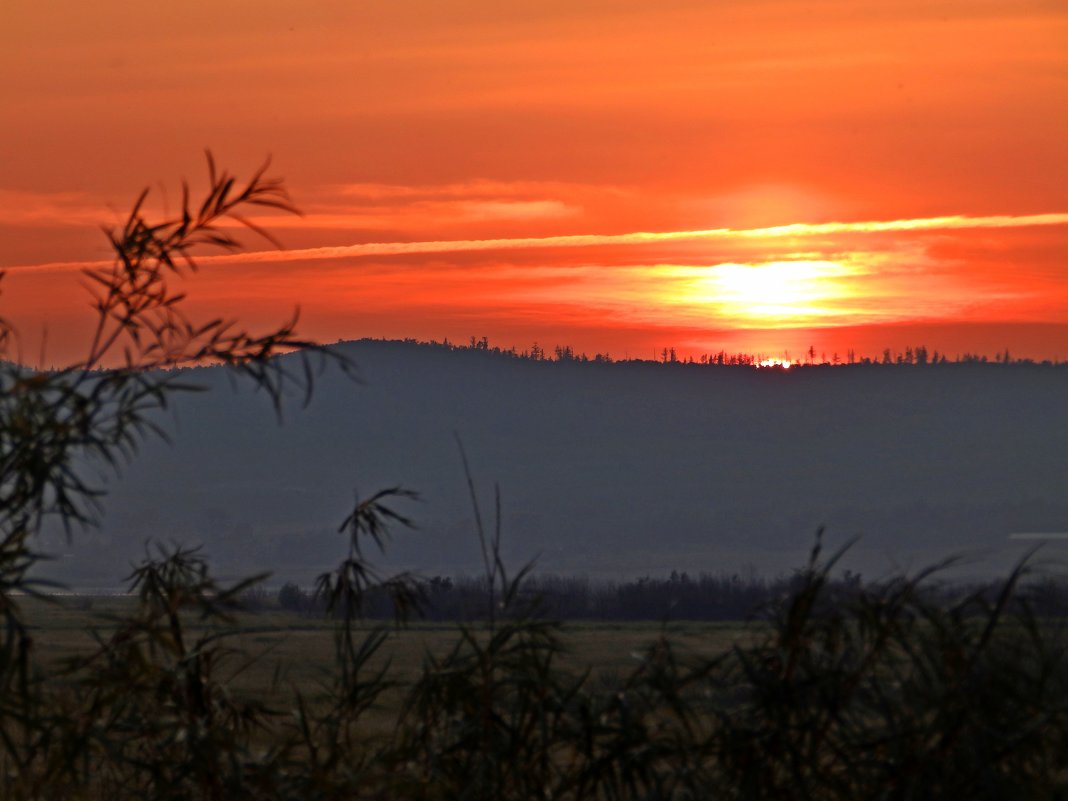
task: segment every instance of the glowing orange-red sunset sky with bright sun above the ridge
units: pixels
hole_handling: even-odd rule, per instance
[[[99,225],[206,147],[304,216],[206,258],[199,315],[1068,359],[1063,0],[6,0],[0,70],[0,314],[48,361]]]

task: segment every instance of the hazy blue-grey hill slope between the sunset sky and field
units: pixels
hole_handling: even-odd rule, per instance
[[[1004,562],[1010,532],[1068,531],[1068,368],[783,372],[336,347],[363,383],[327,374],[281,426],[222,368],[191,371],[214,391],[178,404],[174,444],[144,449],[112,482],[101,530],[50,571],[113,583],[156,538],[204,543],[224,570],[309,581],[337,555],[354,487],[394,485],[423,502],[405,508],[420,529],[390,561],[474,570],[457,435],[485,511],[500,485],[508,553],[546,570],[778,571],[821,524],[832,539],[863,535],[850,559],[868,571],[984,548]]]

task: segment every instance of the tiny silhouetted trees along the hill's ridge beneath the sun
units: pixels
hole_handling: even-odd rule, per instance
[[[709,366],[742,366],[742,367],[804,367],[804,366],[844,366],[844,365],[923,365],[933,366],[941,364],[1063,364],[1062,361],[1049,359],[1036,361],[1034,359],[1018,358],[1011,355],[1008,348],[998,351],[993,358],[986,354],[954,354],[939,351],[937,348],[928,348],[926,345],[906,347],[905,350],[894,348],[883,348],[878,356],[859,355],[852,348],[845,354],[817,351],[815,346],[810,346],[807,350],[799,355],[790,355],[788,351],[780,355],[727,352],[719,350],[710,354],[702,354],[697,357],[680,357],[673,347],[661,348],[659,352],[651,354],[650,359],[626,358],[617,359],[609,352],[596,352],[590,356],[583,351],[577,351],[570,345],[554,345],[551,349],[543,347],[537,342],[530,348],[520,350],[512,347],[502,348],[491,346],[486,336],[472,336],[467,343],[450,342],[446,336],[442,342],[435,340],[422,341],[415,339],[405,339],[403,342],[412,345],[427,347],[445,348],[449,350],[484,350],[499,354],[515,359],[523,359],[535,362],[594,362],[598,364],[614,364],[628,362],[642,362],[655,364],[695,364]]]

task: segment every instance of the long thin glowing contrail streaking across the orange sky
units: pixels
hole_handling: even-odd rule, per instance
[[[639,231],[629,234],[576,234],[570,236],[516,237],[509,239],[442,239],[417,242],[362,242],[325,248],[296,250],[260,250],[198,256],[198,263],[271,263],[304,262],[328,258],[361,256],[392,256],[422,253],[464,253],[483,250],[528,250],[532,248],[584,248],[598,245],[649,245],[663,241],[704,239],[757,239],[788,236],[818,236],[822,234],[870,234],[892,231],[948,231],[960,229],[1015,229],[1035,225],[1068,225],[1068,213],[1040,215],[993,215],[988,217],[921,217],[911,220],[871,220],[866,222],[795,222],[759,229],[704,229],[697,231]],[[101,267],[111,264],[99,262],[53,262],[49,264],[19,265],[7,270],[73,270]]]

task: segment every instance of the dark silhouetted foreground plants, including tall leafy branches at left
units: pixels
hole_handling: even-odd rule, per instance
[[[959,596],[929,575],[831,581],[812,557],[763,611],[751,642],[714,657],[651,642],[634,669],[568,668],[559,624],[528,572],[511,576],[500,527],[484,559],[477,621],[398,679],[375,655],[387,629],[361,624],[389,599],[398,623],[424,586],[380,575],[410,493],[356,504],[347,552],[315,603],[333,622],[333,668],[287,704],[235,691],[248,657],[233,615],[263,577],[221,585],[197,551],[152,550],[129,577],[136,603],[95,645],[59,664],[37,657],[25,608],[46,521],[92,523],[97,485],[74,466],[132,455],[153,414],[188,391],[153,368],[233,364],[279,403],[315,371],[273,357],[303,345],[292,326],[263,336],[180,312],[169,279],[198,244],[234,247],[218,226],[247,204],[287,208],[262,173],[245,189],[214,167],[202,205],[150,224],[135,208],[112,232],[115,264],[90,273],[100,326],[67,370],[0,370],[0,795],[15,799],[912,799],[1050,798],[1068,792],[1068,654],[1061,621],[1020,592],[1024,567]],[[186,265],[183,267],[183,265]],[[11,329],[4,327],[10,334]],[[305,350],[314,354],[314,349]],[[309,356],[310,358],[310,356]],[[470,475],[470,471],[468,471]],[[475,493],[472,488],[472,500]],[[499,520],[500,515],[494,516]],[[387,694],[395,723],[371,723]],[[395,702],[390,702],[395,704]]]

